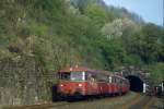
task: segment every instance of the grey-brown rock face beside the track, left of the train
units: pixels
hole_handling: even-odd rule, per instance
[[[0,60],[0,105],[50,101],[51,81],[33,57]]]

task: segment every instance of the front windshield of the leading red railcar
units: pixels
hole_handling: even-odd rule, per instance
[[[85,81],[84,72],[62,72],[59,76],[63,81]]]

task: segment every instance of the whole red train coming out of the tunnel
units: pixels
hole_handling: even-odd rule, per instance
[[[58,94],[62,98],[116,95],[129,92],[129,81],[108,71],[72,66],[57,71]]]

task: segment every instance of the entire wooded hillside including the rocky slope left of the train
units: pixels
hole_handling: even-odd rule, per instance
[[[75,64],[151,66],[157,84],[163,36],[161,26],[102,0],[0,0],[0,104],[50,101],[52,70]]]

